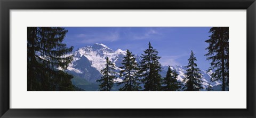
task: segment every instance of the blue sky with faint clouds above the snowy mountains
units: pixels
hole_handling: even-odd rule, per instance
[[[77,48],[102,43],[110,49],[129,49],[141,55],[148,48],[148,42],[157,49],[162,65],[188,65],[190,51],[197,58],[201,70],[210,67],[204,56],[209,46],[210,27],[66,27],[68,30],[63,43]]]

